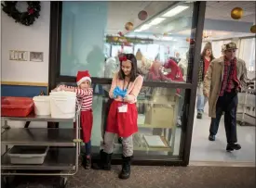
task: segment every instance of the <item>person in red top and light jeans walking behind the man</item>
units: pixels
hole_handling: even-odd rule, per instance
[[[210,43],[205,44],[203,52],[201,54],[201,60],[198,69],[198,82],[197,82],[197,101],[196,101],[196,109],[197,109],[197,119],[203,118],[204,108],[208,101],[208,98],[203,94],[203,82],[205,75],[209,69],[209,63],[214,59],[212,54],[212,47]]]

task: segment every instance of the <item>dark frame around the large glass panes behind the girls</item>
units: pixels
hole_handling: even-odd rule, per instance
[[[204,28],[204,19],[206,11],[206,2],[200,1],[194,3],[192,17],[192,37],[195,39],[193,48],[193,57],[189,59],[188,77],[186,83],[178,82],[157,82],[144,81],[143,86],[164,87],[164,88],[181,88],[185,89],[184,104],[185,110],[182,119],[182,135],[180,143],[180,159],[158,158],[149,159],[134,158],[133,164],[136,165],[167,165],[167,166],[187,166],[189,164],[193,122],[195,115],[195,98],[198,78],[198,67],[200,61],[202,33]],[[62,19],[62,2],[50,2],[50,28],[49,28],[49,67],[48,67],[48,91],[51,91],[58,82],[75,82],[75,77],[61,76],[61,19]],[[194,63],[198,62],[198,63]],[[96,84],[111,84],[112,79],[92,77]],[[189,119],[189,120],[188,120]],[[113,164],[121,164],[121,157],[114,157]]]

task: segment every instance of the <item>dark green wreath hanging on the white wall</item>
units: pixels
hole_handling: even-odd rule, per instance
[[[5,1],[2,3],[2,10],[7,13],[9,17],[15,19],[25,26],[30,26],[38,19],[41,10],[40,1],[27,1],[28,8],[26,12],[20,12],[16,7],[17,1]]]

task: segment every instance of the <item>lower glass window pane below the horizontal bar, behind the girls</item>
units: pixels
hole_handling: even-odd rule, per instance
[[[94,118],[91,144],[92,151],[98,153],[111,104],[108,97],[110,85],[93,84],[92,87]],[[133,135],[136,157],[180,157],[184,93],[182,89],[142,87],[137,102],[139,132]],[[70,128],[73,125],[61,122],[60,127]],[[122,153],[117,136],[114,153]]]

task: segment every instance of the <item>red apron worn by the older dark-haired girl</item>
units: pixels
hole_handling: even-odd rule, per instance
[[[128,106],[127,112],[118,112],[118,107],[123,104]],[[119,137],[128,137],[138,132],[138,112],[136,104],[128,104],[120,101],[113,101],[107,119],[106,132],[117,133]]]

